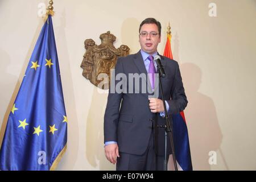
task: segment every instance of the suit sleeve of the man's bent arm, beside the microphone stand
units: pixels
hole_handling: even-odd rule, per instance
[[[171,100],[167,101],[170,107],[168,114],[177,114],[180,111],[183,111],[188,104],[180,75],[179,64],[177,64],[176,61],[175,65],[174,83],[171,88]]]

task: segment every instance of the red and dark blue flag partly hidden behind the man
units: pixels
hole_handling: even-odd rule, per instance
[[[173,59],[171,50],[171,34],[167,35],[164,56]],[[192,171],[191,154],[189,148],[188,129],[185,121],[184,112],[172,115],[174,147],[176,154],[177,167],[179,171]],[[172,158],[172,156],[171,156]],[[169,169],[174,169],[174,161],[170,158]]]

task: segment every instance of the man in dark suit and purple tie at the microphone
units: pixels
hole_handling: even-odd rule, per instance
[[[156,127],[165,125],[164,106],[152,58],[158,55],[160,41],[160,22],[143,20],[139,27],[141,50],[120,57],[115,65],[104,116],[104,142],[106,158],[117,163],[117,170],[164,169],[165,129]],[[188,103],[179,65],[160,57],[166,72],[162,82],[167,114],[177,114]],[[167,154],[171,154],[169,138]]]

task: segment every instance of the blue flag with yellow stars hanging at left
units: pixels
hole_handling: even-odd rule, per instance
[[[67,115],[49,15],[7,121],[0,170],[55,169],[66,144]]]

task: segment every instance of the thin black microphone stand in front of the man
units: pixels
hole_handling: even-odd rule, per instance
[[[159,83],[160,83],[160,91],[162,94],[162,101],[164,105],[164,118],[166,119],[166,125],[164,127],[166,128],[165,132],[165,150],[164,150],[164,171],[167,171],[168,163],[167,163],[167,135],[170,137],[171,141],[171,147],[172,147],[172,157],[174,159],[174,167],[175,171],[177,171],[177,163],[176,163],[176,155],[175,155],[175,150],[174,150],[174,140],[173,140],[173,135],[172,135],[172,129],[170,125],[170,119],[172,122],[172,118],[169,117],[167,114],[167,109],[166,109],[166,102],[164,101],[164,94],[163,94],[163,85],[162,85],[162,73],[159,71],[159,66],[158,66],[158,73],[159,73]],[[161,127],[161,126],[158,126]]]

